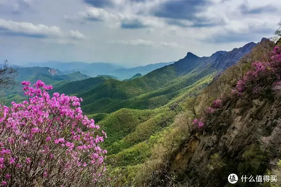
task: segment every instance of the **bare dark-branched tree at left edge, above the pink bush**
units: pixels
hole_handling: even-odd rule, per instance
[[[0,65],[0,89],[10,89],[12,85],[16,85],[15,77],[18,76],[17,69],[8,66],[8,61]]]

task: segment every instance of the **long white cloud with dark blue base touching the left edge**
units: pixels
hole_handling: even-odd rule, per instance
[[[0,35],[69,39],[82,39],[85,37],[79,31],[70,30],[69,33],[63,33],[58,26],[34,25],[28,22],[14,22],[5,19],[0,19]]]

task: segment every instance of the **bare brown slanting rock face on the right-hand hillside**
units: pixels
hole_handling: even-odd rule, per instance
[[[193,182],[199,183],[199,186],[229,184],[226,179],[228,176],[219,180],[214,177],[215,170],[209,170],[210,156],[218,153],[221,158],[237,164],[245,145],[251,144],[253,134],[259,133],[258,125],[272,126],[281,113],[280,100],[261,101],[250,97],[249,94],[248,97],[229,101],[220,113],[220,117],[225,118],[225,122],[220,124],[220,130],[196,133],[187,139],[174,152],[169,170],[188,176]]]

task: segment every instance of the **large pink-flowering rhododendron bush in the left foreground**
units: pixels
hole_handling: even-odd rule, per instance
[[[105,166],[106,133],[82,114],[81,98],[22,82],[28,101],[0,105],[0,175],[7,186],[95,186]],[[87,132],[81,128],[90,129]]]

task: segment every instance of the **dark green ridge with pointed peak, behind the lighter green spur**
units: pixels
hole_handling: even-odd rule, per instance
[[[153,70],[138,79],[107,79],[83,92],[72,94],[83,98],[81,106],[86,113],[111,113],[121,108],[156,108],[168,103],[182,89],[196,81],[209,79],[211,74],[233,65],[255,45],[252,42],[228,52],[219,51],[210,57],[198,57],[189,52],[183,59]]]

